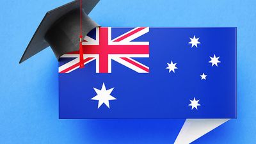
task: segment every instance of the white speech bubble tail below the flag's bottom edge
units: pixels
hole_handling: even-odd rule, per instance
[[[192,143],[230,119],[186,119],[174,144]]]

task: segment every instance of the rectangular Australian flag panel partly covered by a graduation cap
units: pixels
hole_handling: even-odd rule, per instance
[[[236,118],[236,28],[96,28],[60,58],[60,118]]]

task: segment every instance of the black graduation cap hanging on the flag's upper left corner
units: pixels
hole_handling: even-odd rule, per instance
[[[88,14],[99,0],[83,0],[82,4],[82,34],[85,36],[93,28],[99,26]],[[19,63],[28,60],[31,56],[51,46],[57,59],[61,55],[79,50],[80,35],[80,3],[72,1],[51,10],[45,14],[44,19],[36,29]]]

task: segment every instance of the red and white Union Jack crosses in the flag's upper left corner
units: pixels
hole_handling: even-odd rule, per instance
[[[132,59],[149,57],[148,42],[132,42],[148,31],[148,27],[138,27],[112,39],[111,28],[96,28],[95,39],[90,36],[84,38],[84,65],[96,60],[97,73],[111,73],[111,61],[114,60],[136,72],[148,73],[146,65]],[[70,52],[61,58],[75,59],[61,65],[60,73],[69,73],[79,68],[79,52]]]

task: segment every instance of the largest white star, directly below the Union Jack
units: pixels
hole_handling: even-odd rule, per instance
[[[106,104],[106,106],[108,106],[109,108],[109,100],[116,100],[115,97],[110,95],[114,88],[106,90],[104,83],[102,84],[101,90],[98,90],[97,88],[93,88],[93,89],[95,90],[97,95],[93,97],[92,100],[99,100],[98,109],[103,103]]]

